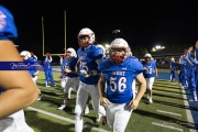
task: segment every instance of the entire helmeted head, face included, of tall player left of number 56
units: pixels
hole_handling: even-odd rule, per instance
[[[88,28],[81,29],[77,37],[81,47],[87,47],[95,42],[95,33]]]

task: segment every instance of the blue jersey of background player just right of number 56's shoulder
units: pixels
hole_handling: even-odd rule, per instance
[[[155,77],[155,68],[156,68],[156,63],[154,61],[151,61],[150,63],[146,63],[145,61],[142,62],[144,72],[143,76],[144,78],[151,78]]]

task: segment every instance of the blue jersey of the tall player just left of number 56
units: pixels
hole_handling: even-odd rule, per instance
[[[81,47],[78,48],[77,55],[78,61],[80,62],[79,70],[98,70],[98,64],[96,63],[96,61],[102,59],[103,50],[91,44],[86,50],[82,50]],[[79,80],[88,85],[97,85],[99,80],[99,75],[92,75],[86,78],[81,74],[79,74]]]

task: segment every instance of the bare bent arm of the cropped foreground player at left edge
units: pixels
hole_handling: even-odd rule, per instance
[[[0,62],[22,62],[11,41],[0,40]],[[32,105],[38,89],[28,70],[0,70],[0,119]]]

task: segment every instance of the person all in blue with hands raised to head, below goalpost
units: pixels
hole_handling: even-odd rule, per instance
[[[51,85],[55,87],[55,81],[53,77],[53,70],[52,70],[52,56],[50,53],[46,53],[46,56],[44,58],[43,65],[44,65],[44,72],[45,72],[45,87],[51,87],[48,85],[48,80],[51,81]]]

